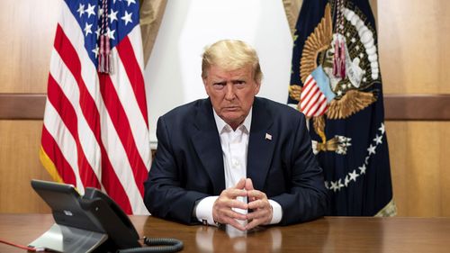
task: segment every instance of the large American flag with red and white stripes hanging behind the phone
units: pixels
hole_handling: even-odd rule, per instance
[[[61,3],[40,160],[56,181],[76,185],[81,194],[96,187],[124,212],[148,214],[142,196],[151,153],[139,1],[103,1]],[[102,16],[110,74],[97,71]]]

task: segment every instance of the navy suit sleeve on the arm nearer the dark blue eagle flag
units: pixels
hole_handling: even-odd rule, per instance
[[[317,219],[327,212],[329,202],[323,181],[322,170],[312,153],[311,139],[303,115],[293,133],[292,145],[286,148],[289,154],[285,169],[291,178],[288,192],[271,197],[283,209],[282,225]]]

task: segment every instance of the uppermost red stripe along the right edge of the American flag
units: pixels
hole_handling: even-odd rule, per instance
[[[121,62],[123,63],[123,68],[127,72],[127,76],[130,80],[130,85],[133,89],[136,101],[139,104],[140,113],[144,117],[144,120],[148,128],[148,113],[147,113],[147,102],[145,95],[144,77],[142,77],[142,72],[140,71],[138,61],[134,54],[134,50],[130,43],[128,36],[125,36],[123,40],[116,46],[117,52],[121,57]]]

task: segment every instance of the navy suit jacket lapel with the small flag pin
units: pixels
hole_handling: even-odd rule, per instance
[[[247,177],[252,179],[257,190],[263,189],[269,170],[276,136],[271,131],[273,118],[263,101],[255,98],[253,104],[252,124],[248,141]]]

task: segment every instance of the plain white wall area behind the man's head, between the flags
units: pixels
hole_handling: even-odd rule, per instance
[[[257,50],[265,76],[259,96],[286,103],[293,40],[282,1],[168,0],[144,73],[152,146],[160,115],[206,97],[202,50],[223,39],[246,41]]]

